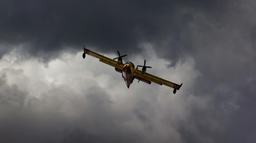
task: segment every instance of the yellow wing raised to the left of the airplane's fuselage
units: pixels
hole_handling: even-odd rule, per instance
[[[91,50],[88,50],[88,49],[86,49],[85,47],[83,47],[83,51],[84,51],[83,58],[85,58],[85,54],[88,54],[88,55],[90,55],[90,56],[93,56],[93,57],[95,57],[95,58],[100,59],[101,62],[103,62],[103,63],[105,63],[105,64],[108,64],[108,65],[111,65],[111,66],[113,66],[113,67],[115,67],[115,68],[117,68],[117,69],[122,70],[123,67],[124,67],[124,64],[123,64],[123,63],[121,63],[121,62],[119,62],[119,61],[115,61],[115,60],[113,60],[113,59],[110,59],[110,58],[108,58],[108,57],[106,57],[106,56],[103,56],[103,55],[101,55],[101,54],[99,54],[99,53],[96,53],[96,52],[93,52],[93,51],[91,51]]]

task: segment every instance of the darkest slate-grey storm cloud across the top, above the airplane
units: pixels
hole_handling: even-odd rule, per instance
[[[201,0],[1,1],[0,39],[6,44],[29,43],[20,51],[44,61],[58,56],[63,48],[81,50],[83,44],[104,52],[136,53],[141,42],[167,39],[172,41],[168,48],[174,56],[191,44],[182,39],[181,30],[193,12],[221,12],[222,7],[224,1]]]

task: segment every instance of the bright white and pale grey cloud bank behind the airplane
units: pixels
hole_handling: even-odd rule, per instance
[[[157,57],[150,44],[144,47],[143,57],[146,57],[147,65],[153,67],[147,72],[178,84],[183,82],[175,95],[172,88],[137,83],[136,80],[127,89],[121,74],[113,67],[89,55],[82,59],[82,52],[64,53],[60,59],[50,61],[48,67],[33,58],[15,62],[13,56],[16,55],[11,52],[0,60],[0,76],[6,75],[5,86],[15,85],[26,95],[23,113],[32,118],[32,123],[24,124],[39,124],[38,128],[28,128],[28,132],[32,129],[40,131],[52,140],[64,138],[65,130],[73,132],[74,128],[119,142],[129,136],[133,136],[131,141],[135,142],[186,142],[184,134],[187,132],[200,136],[200,141],[210,138],[200,131],[198,124],[212,127],[214,131],[222,130],[218,119],[211,119],[208,114],[202,119],[193,115],[195,110],[202,113],[215,111],[211,103],[213,97],[193,95],[194,85],[201,76],[195,69],[195,60],[187,56],[175,67],[168,67],[170,62]],[[113,58],[116,55],[106,56]],[[143,64],[144,60],[141,55],[128,59],[133,59],[135,66]],[[9,96],[8,91],[0,93]],[[13,111],[13,116],[24,119],[18,116],[18,111]],[[0,112],[3,114],[4,110]],[[0,120],[13,117],[4,116],[0,116]],[[55,128],[50,133],[56,137],[46,133],[49,130],[46,126]]]

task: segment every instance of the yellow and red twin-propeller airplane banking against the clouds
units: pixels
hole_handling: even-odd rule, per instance
[[[179,84],[170,82],[168,80],[159,78],[157,76],[151,75],[149,73],[146,73],[147,68],[152,68],[150,66],[145,66],[146,60],[144,60],[144,66],[137,65],[137,67],[135,68],[135,66],[132,62],[126,62],[125,64],[123,64],[123,57],[127,56],[127,55],[120,56],[119,51],[117,51],[119,57],[114,58],[114,59],[110,59],[110,58],[103,56],[99,53],[88,50],[85,48],[85,46],[83,46],[83,51],[84,51],[83,59],[85,58],[85,55],[88,54],[90,56],[93,56],[94,58],[100,59],[100,61],[105,64],[115,67],[116,72],[122,73],[122,77],[123,77],[128,89],[135,78],[138,80],[138,82],[143,81],[148,84],[151,84],[151,82],[154,82],[154,83],[157,83],[160,85],[164,84],[168,87],[174,88],[174,90],[173,90],[174,94],[182,86],[182,84],[179,85]],[[116,61],[115,59],[118,59],[118,60]],[[139,70],[138,67],[142,67],[142,70]]]

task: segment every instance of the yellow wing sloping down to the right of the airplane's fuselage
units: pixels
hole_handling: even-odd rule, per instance
[[[165,79],[162,79],[162,78],[159,78],[157,76],[154,76],[154,75],[151,75],[151,74],[148,74],[148,73],[142,73],[141,70],[139,69],[135,69],[135,78],[136,79],[144,79],[144,80],[148,80],[148,81],[152,81],[152,82],[155,82],[157,84],[160,84],[160,85],[166,85],[168,87],[171,87],[171,88],[174,88],[176,90],[179,90],[180,87],[182,86],[182,84],[176,84],[176,83],[173,83],[173,82],[170,82],[168,80],[165,80]],[[175,90],[175,92],[176,92]]]

